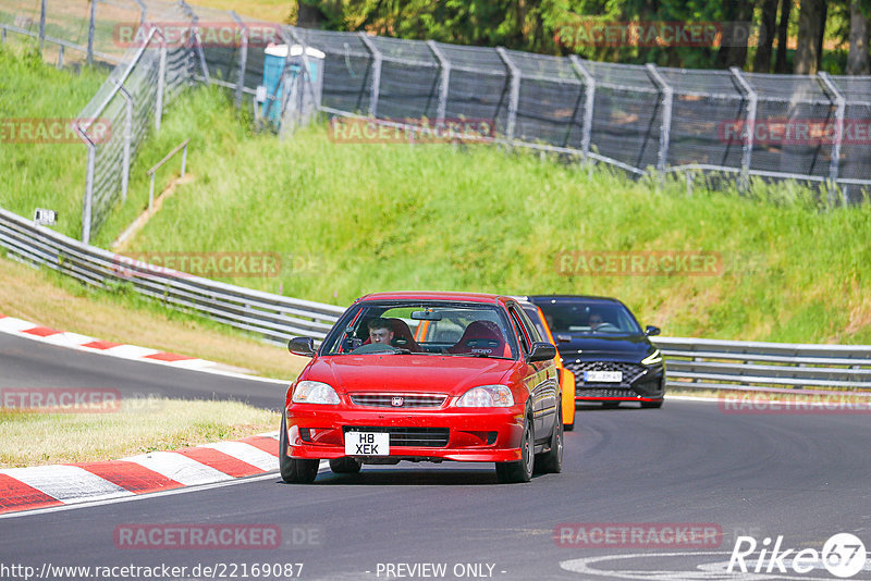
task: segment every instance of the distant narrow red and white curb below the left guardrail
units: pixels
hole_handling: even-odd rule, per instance
[[[208,361],[206,359],[198,359],[196,357],[188,357],[185,355],[161,351],[158,349],[149,349],[147,347],[138,347],[136,345],[100,341],[86,335],[79,335],[77,333],[69,333],[64,331],[58,331],[57,329],[41,326],[29,321],[16,319],[15,317],[7,317],[2,313],[0,313],[0,333],[8,333],[42,343],[50,343],[60,347],[70,347],[73,349],[108,355],[111,357],[120,357],[122,359],[147,361],[150,363],[159,363],[195,371],[208,371],[222,375],[267,381],[271,383],[287,383],[286,381],[247,375],[242,373],[245,370],[232,368],[223,363],[216,363],[214,361]]]

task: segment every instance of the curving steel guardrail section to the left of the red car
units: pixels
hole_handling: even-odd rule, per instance
[[[99,288],[127,284],[172,309],[193,312],[284,344],[322,338],[344,308],[261,293],[157,268],[59,234],[0,208],[0,246],[12,258],[45,265]]]

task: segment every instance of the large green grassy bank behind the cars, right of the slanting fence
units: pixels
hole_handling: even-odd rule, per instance
[[[192,136],[195,180],[133,250],[279,252],[280,276],[228,281],[339,305],[397,288],[591,293],[667,335],[871,343],[869,206],[819,207],[790,185],[688,197],[488,146],[340,145],[323,125],[281,143],[252,135],[218,91],[188,99],[146,156]],[[575,250],[701,251],[720,269],[562,275]]]

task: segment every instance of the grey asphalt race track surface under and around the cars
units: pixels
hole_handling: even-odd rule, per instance
[[[275,356],[284,354],[277,348]],[[123,394],[233,397],[272,409],[283,396],[280,385],[2,335],[0,370],[0,387],[116,387]],[[832,535],[849,532],[871,549],[869,419],[726,413],[715,403],[682,400],[666,400],[661,410],[590,407],[566,434],[563,472],[529,484],[496,484],[492,465],[403,462],[365,466],[355,475],[327,469],[311,485],[284,484],[274,473],[0,518],[0,579],[24,579],[23,569],[10,566],[33,567],[34,578],[44,579],[106,578],[95,577],[96,567],[118,567],[113,579],[161,580],[837,579],[819,564],[807,573],[780,574],[775,568],[740,576],[725,567],[738,535],[753,536],[760,548],[764,537],[783,535],[784,549],[819,552]],[[717,527],[723,537],[713,547],[560,546],[554,530],[561,523],[575,523],[573,530],[698,523]],[[120,540],[143,526],[168,534],[231,524],[278,529],[281,542],[252,548],[252,537],[243,535],[219,548],[179,548],[173,541],[134,548]],[[750,567],[757,555],[747,558]],[[283,564],[303,569],[254,573],[255,565]],[[120,569],[131,565],[186,570],[137,576]],[[89,577],[63,574],[58,566],[93,570]],[[216,570],[206,574],[204,567]],[[871,579],[871,559],[851,579]]]

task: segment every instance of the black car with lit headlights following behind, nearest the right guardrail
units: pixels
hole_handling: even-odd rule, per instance
[[[578,295],[528,297],[544,312],[563,366],[575,374],[575,401],[616,407],[639,401],[662,407],[665,366],[650,339],[660,330],[641,325],[615,298]]]

